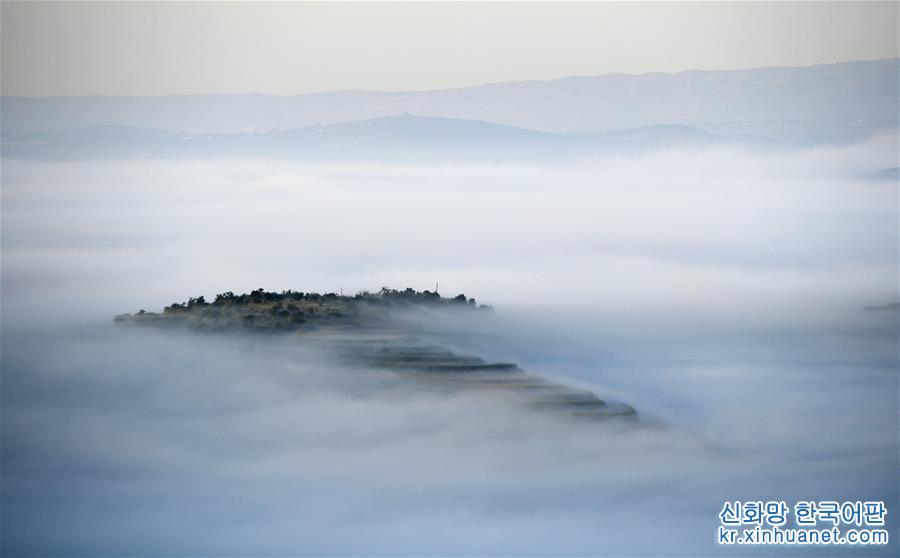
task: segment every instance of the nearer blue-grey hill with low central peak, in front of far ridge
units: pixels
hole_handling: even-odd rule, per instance
[[[721,138],[688,127],[551,134],[449,118],[401,115],[297,130],[184,134],[126,126],[4,134],[5,158],[134,159],[273,157],[293,160],[548,160],[611,149],[706,145]]]

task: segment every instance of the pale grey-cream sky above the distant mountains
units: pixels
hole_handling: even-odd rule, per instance
[[[898,56],[898,2],[2,2],[5,95],[441,89]]]

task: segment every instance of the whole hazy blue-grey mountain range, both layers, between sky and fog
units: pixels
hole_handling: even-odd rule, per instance
[[[848,143],[897,127],[898,68],[887,59],[439,91],[3,97],[3,155],[493,158]]]

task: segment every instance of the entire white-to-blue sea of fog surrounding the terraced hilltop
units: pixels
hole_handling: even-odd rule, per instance
[[[569,165],[2,162],[4,555],[842,555],[725,500],[900,513],[897,143]],[[429,338],[572,423],[284,336],[112,325],[255,288],[464,292]]]

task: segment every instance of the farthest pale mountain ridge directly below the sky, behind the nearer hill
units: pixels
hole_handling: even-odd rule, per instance
[[[435,91],[337,91],[293,96],[3,97],[5,133],[133,126],[191,135],[272,132],[410,113],[551,133],[645,126],[823,121],[896,127],[900,61],[799,68],[604,74]],[[800,126],[803,124],[803,126]]]

